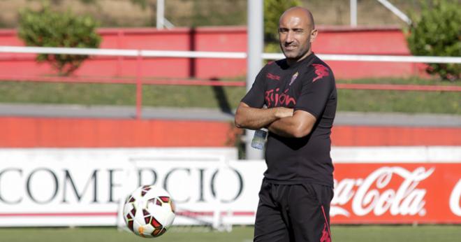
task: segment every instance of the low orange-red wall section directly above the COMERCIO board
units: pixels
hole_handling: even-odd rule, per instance
[[[231,122],[89,118],[0,118],[0,147],[233,146]]]

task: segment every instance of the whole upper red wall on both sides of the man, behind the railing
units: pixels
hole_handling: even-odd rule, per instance
[[[245,27],[201,27],[197,29],[100,29],[101,48],[142,50],[199,50],[245,52]],[[1,30],[0,45],[23,45],[16,31]],[[314,52],[319,54],[409,55],[404,34],[395,27],[319,27]],[[337,78],[407,77],[421,66],[388,62],[328,62]],[[150,58],[142,62],[142,75],[168,78],[244,77],[245,59]],[[17,71],[22,70],[22,71]],[[34,55],[0,53],[0,75],[49,75],[48,64],[36,64]],[[77,71],[80,76],[135,76],[136,59],[93,57]]]

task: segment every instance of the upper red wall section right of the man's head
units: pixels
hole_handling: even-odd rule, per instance
[[[397,28],[336,27],[320,29],[313,49],[321,54],[411,55]],[[409,77],[423,75],[422,64],[399,62],[327,62],[339,79]]]

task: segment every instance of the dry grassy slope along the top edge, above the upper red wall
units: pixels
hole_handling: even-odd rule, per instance
[[[2,1],[6,13],[1,16],[1,27],[18,26],[17,11],[24,7],[38,9],[42,1]],[[155,27],[156,0],[52,0],[56,10],[71,8],[74,13],[92,15],[101,27]],[[286,1],[290,5],[292,1]],[[396,24],[404,26],[402,20],[375,0],[358,0],[361,26]],[[423,1],[390,1],[404,13],[420,13]],[[430,1],[425,1],[430,2]],[[298,1],[312,9],[316,22],[322,25],[349,25],[349,1],[313,0]],[[247,1],[244,0],[169,0],[165,1],[165,16],[175,27],[226,26],[247,24]]]

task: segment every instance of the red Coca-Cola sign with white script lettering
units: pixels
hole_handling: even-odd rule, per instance
[[[461,223],[461,164],[335,164],[333,223]]]

